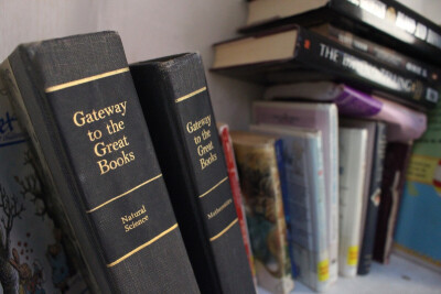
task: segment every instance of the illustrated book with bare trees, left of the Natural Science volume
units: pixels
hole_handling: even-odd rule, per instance
[[[0,292],[89,293],[0,79]],[[75,247],[76,248],[76,247]],[[82,275],[83,274],[83,275]]]

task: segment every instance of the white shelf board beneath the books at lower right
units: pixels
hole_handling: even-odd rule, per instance
[[[259,294],[269,292],[259,288]],[[295,281],[293,294],[315,293]],[[326,294],[441,294],[441,274],[422,268],[396,254],[387,265],[373,262],[365,276],[342,277]]]

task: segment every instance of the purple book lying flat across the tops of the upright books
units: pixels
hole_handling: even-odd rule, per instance
[[[386,122],[389,142],[416,140],[427,128],[424,112],[329,80],[271,86],[265,90],[263,98],[334,102],[342,116]]]

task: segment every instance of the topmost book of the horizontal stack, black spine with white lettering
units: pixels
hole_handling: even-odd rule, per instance
[[[250,33],[290,23],[316,25],[330,22],[375,40],[385,46],[441,65],[441,29],[394,0],[258,0],[248,3]]]

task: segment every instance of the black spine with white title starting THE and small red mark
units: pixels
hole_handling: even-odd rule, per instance
[[[316,33],[299,29],[295,59],[309,67],[329,72],[367,91],[388,94],[389,98],[416,108],[437,105],[439,91],[427,81],[407,73],[397,73],[361,53],[348,50]]]

